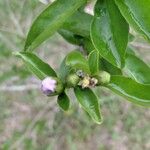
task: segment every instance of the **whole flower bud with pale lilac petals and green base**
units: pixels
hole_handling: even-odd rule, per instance
[[[41,90],[47,96],[58,95],[63,91],[63,84],[58,78],[46,77],[42,81]]]

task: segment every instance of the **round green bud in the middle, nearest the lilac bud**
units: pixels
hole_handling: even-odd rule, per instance
[[[79,83],[80,78],[78,75],[72,73],[67,76],[66,81],[68,87],[75,87]]]

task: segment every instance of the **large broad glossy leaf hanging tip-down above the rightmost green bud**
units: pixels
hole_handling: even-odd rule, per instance
[[[124,66],[128,24],[113,0],[97,1],[91,25],[91,39],[100,55],[114,66]]]

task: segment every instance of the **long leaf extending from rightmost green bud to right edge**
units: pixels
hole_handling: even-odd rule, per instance
[[[150,107],[150,85],[123,76],[111,76],[107,87],[135,104]]]

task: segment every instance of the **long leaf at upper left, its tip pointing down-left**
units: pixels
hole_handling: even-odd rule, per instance
[[[33,50],[53,35],[86,0],[56,0],[33,22],[24,50]]]

